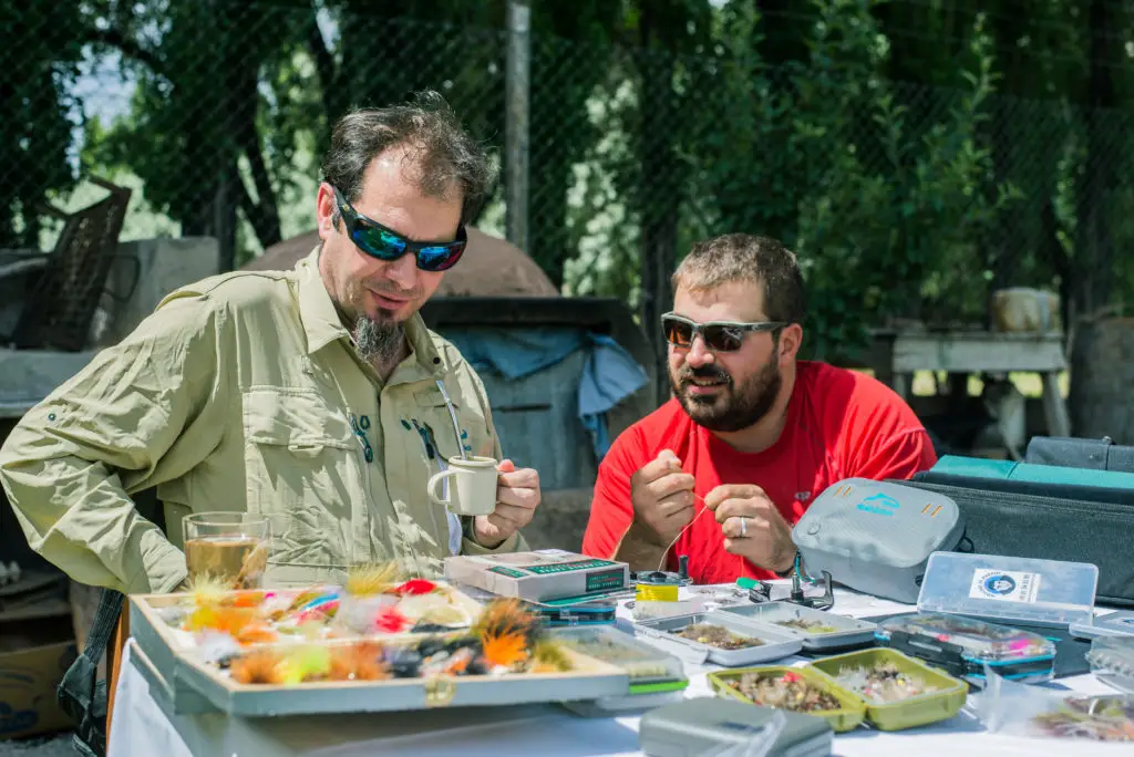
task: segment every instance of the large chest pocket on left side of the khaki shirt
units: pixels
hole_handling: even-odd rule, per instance
[[[355,503],[365,492],[342,409],[314,391],[251,389],[243,424],[248,510],[272,528],[265,580],[294,569],[320,580],[321,569],[350,564],[353,524],[365,517]]]

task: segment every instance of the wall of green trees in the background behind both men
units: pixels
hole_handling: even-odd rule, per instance
[[[1134,283],[1115,275],[1134,277],[1116,253],[1134,241],[1120,3],[531,5],[527,252],[566,291],[633,303],[650,333],[689,245],[733,230],[799,252],[809,348],[824,356],[861,343],[868,325],[980,321],[993,287],[1058,286],[1092,309]],[[12,167],[0,235],[32,239],[34,202],[75,180],[68,117],[82,110],[84,54],[119,60],[137,88],[122,118],[83,125],[83,168],[127,168],[184,233],[234,253],[298,228],[310,198],[297,205],[297,188],[308,192],[312,158],[350,108],[438,88],[506,158],[506,9],[90,0],[0,11],[20,40],[56,31],[0,67],[16,103],[16,128],[0,128]]]

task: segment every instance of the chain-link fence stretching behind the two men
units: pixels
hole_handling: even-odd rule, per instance
[[[514,37],[361,5],[7,3],[0,248],[50,248],[41,203],[88,204],[102,176],[135,188],[124,237],[214,236],[239,265],[313,227],[336,117],[425,87],[506,155]],[[1102,305],[1134,277],[1115,255],[1134,236],[1125,111],[999,94],[976,69],[942,88],[719,45],[530,45],[526,252],[567,294],[653,321],[695,239],[761,231],[801,253],[835,345],[883,316],[982,320],[993,287]],[[499,235],[503,197],[479,221]]]

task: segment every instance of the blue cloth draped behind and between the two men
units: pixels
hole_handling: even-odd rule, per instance
[[[474,368],[494,371],[510,381],[556,365],[577,350],[586,350],[578,385],[578,418],[591,434],[599,460],[610,449],[607,412],[649,380],[645,369],[618,342],[582,329],[479,329],[445,337]]]

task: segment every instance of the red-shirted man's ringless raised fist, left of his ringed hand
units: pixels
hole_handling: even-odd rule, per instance
[[[693,520],[694,483],[670,450],[662,450],[631,476],[634,520],[657,546],[668,547]]]

